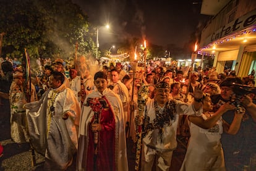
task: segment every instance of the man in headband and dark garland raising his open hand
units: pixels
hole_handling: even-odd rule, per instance
[[[173,151],[177,147],[176,132],[180,114],[202,113],[202,91],[196,89],[191,104],[168,98],[170,87],[166,82],[156,84],[155,98],[148,99],[144,111],[145,137],[142,149],[142,170],[169,170]],[[135,122],[140,121],[139,117]],[[156,160],[155,160],[156,157]]]

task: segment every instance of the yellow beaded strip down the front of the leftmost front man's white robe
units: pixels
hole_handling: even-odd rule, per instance
[[[48,106],[49,106],[49,112],[47,114],[47,137],[48,137],[48,133],[49,133],[49,127],[51,124],[51,117],[54,115],[54,111],[55,111],[55,106],[56,106],[56,98],[58,97],[59,92],[55,93],[52,92],[51,93],[51,98],[49,98],[48,101]]]

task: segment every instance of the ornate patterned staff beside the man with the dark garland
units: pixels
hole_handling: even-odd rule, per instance
[[[142,122],[144,108],[148,99],[148,85],[142,84],[138,91],[138,115],[137,118],[139,122],[136,122],[136,138],[137,138],[137,150],[135,156],[135,170],[138,171],[140,167],[140,158],[142,153]]]

